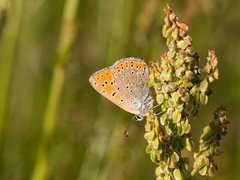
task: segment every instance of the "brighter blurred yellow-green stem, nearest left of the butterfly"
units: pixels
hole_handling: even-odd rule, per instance
[[[47,108],[43,119],[42,139],[40,141],[37,160],[32,179],[45,179],[48,168],[49,145],[56,125],[57,109],[65,79],[65,67],[69,60],[70,48],[74,42],[74,20],[79,0],[66,0],[62,19],[62,29],[57,49],[57,61],[54,67],[53,79],[49,92]]]

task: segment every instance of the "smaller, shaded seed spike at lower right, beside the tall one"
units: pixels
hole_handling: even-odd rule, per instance
[[[200,136],[200,145],[194,153],[192,175],[197,171],[202,176],[213,176],[217,165],[213,161],[214,156],[222,154],[220,140],[227,134],[227,125],[230,122],[226,117],[226,109],[219,107],[214,113],[214,119],[207,125]]]

